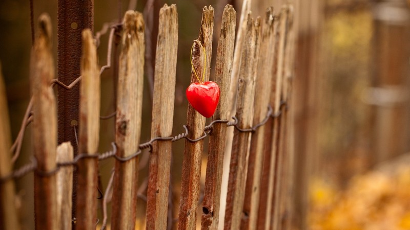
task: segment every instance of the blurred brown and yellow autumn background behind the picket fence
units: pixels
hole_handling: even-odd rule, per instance
[[[239,20],[242,5],[239,0],[94,2],[94,33],[105,22],[121,21],[129,8],[144,12],[151,31],[146,37],[147,55],[152,60],[146,63],[141,142],[150,139],[149,73],[155,63],[158,12],[165,3],[176,4],[179,17],[174,134],[182,132],[182,125],[186,124],[189,55],[192,41],[198,36],[202,7],[214,7],[216,51],[223,7],[232,4]],[[295,9],[297,42],[290,106],[290,150],[295,153],[296,164],[294,209],[290,215],[294,228],[410,229],[409,5],[405,0],[254,0],[253,16],[264,15],[268,6],[278,12],[286,3]],[[53,21],[56,63],[57,1],[34,1],[35,20],[43,12],[49,13]],[[30,98],[29,1],[0,1],[0,31],[0,62],[15,140]],[[101,36],[100,66],[107,63],[107,42],[108,34]],[[215,55],[212,70],[214,59]],[[211,79],[213,74],[211,71]],[[113,76],[113,68],[101,76],[103,116],[114,111]],[[114,140],[114,120],[101,120],[100,132],[99,151],[107,151]],[[29,126],[15,168],[27,163],[33,154],[30,133]],[[175,142],[171,182],[176,217],[182,152],[183,142]],[[204,154],[203,181],[206,157]],[[142,193],[147,182],[147,161],[148,153],[144,153],[139,173]],[[100,163],[103,189],[112,167],[112,160]],[[17,180],[16,188],[24,228],[33,229],[32,175]],[[138,201],[138,209],[139,220],[144,224],[144,201]]]

